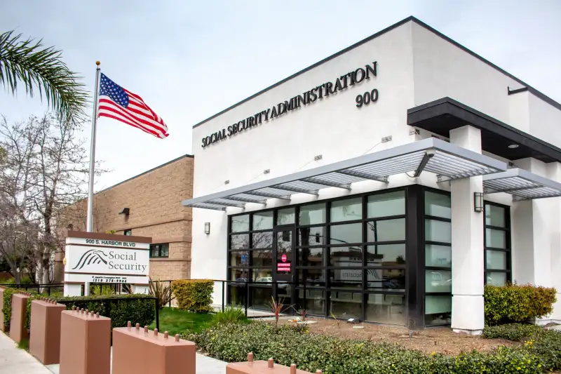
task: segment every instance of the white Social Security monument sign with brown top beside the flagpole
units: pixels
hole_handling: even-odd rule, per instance
[[[65,296],[80,296],[81,286],[88,283],[128,283],[132,293],[148,293],[151,241],[143,236],[67,232]]]

